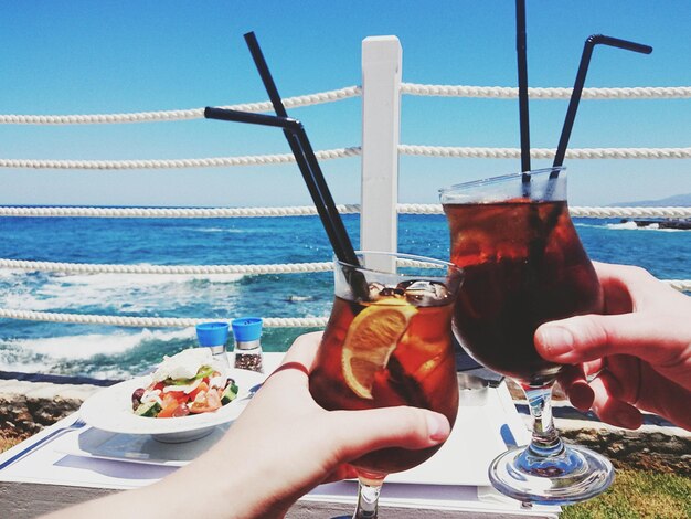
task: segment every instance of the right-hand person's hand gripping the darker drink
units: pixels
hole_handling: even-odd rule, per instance
[[[538,352],[572,364],[560,383],[577,409],[627,428],[645,410],[691,430],[691,298],[642,268],[594,265],[604,315],[542,325]]]

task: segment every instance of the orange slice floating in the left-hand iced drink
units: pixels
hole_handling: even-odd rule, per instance
[[[386,368],[415,314],[417,309],[405,299],[386,298],[355,316],[346,335],[341,363],[346,383],[358,396],[373,399],[374,374]]]

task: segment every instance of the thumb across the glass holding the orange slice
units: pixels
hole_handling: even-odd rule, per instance
[[[418,407],[334,411],[331,414],[341,462],[386,447],[434,447],[444,443],[451,430],[446,416]]]

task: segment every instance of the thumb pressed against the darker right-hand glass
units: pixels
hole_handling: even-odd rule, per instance
[[[563,364],[629,354],[674,380],[691,369],[691,358],[684,354],[691,330],[684,327],[689,328],[663,315],[644,313],[577,316],[538,328],[535,348],[545,359]]]

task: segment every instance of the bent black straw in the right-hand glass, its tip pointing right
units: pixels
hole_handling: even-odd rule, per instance
[[[571,100],[568,102],[568,108],[566,109],[566,118],[564,119],[562,135],[556,147],[556,153],[552,165],[554,168],[559,168],[564,163],[568,138],[571,137],[571,130],[573,129],[574,120],[576,119],[576,110],[578,109],[578,103],[581,100],[581,95],[583,94],[583,85],[585,84],[585,76],[588,72],[595,45],[609,45],[617,49],[624,49],[626,51],[639,52],[641,54],[650,54],[652,52],[652,47],[649,45],[619,40],[618,38],[605,36],[603,34],[593,34],[587,38],[585,45],[583,46],[581,64],[578,65],[578,73],[576,74],[576,81],[574,83],[573,93],[571,94]],[[559,169],[554,169],[550,173],[551,179],[555,179],[556,177],[559,177]]]

